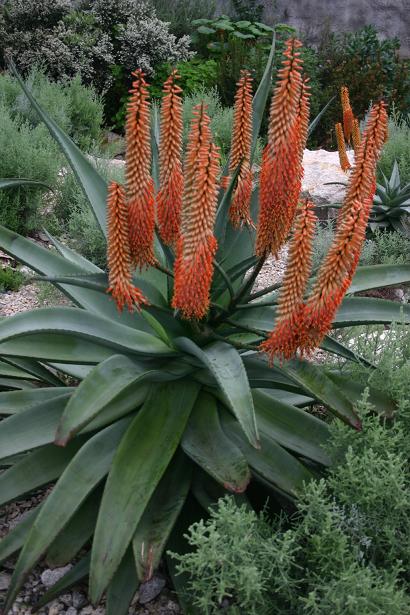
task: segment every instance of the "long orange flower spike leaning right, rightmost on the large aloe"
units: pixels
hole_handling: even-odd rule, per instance
[[[306,351],[317,347],[331,328],[356,271],[376,187],[376,164],[384,143],[387,112],[375,105],[356,156],[333,244],[306,303]]]

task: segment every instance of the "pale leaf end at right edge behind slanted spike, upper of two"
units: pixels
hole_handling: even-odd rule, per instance
[[[358,293],[372,288],[398,286],[410,282],[410,265],[371,265],[358,267],[348,293]]]

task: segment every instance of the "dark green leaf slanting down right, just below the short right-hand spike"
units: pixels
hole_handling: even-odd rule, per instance
[[[282,366],[287,376],[297,382],[305,391],[311,393],[326,405],[333,414],[336,414],[345,423],[355,429],[361,429],[361,422],[353,404],[331,380],[320,365],[309,361],[294,359]]]

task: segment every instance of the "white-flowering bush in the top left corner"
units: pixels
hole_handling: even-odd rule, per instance
[[[171,34],[144,0],[6,0],[0,8],[2,58],[23,73],[41,64],[56,80],[80,74],[100,92],[118,74],[114,66],[124,76],[137,67],[150,75],[158,63],[191,57],[189,41]]]

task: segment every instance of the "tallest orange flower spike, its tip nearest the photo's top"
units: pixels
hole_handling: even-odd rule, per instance
[[[286,241],[299,199],[308,91],[301,76],[301,43],[286,43],[283,68],[270,108],[268,144],[262,156],[256,254],[276,255]]]

